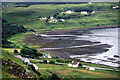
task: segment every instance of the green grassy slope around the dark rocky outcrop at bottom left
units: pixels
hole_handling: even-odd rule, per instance
[[[29,66],[24,64],[21,59],[14,57],[12,54],[10,54],[10,53],[8,53],[6,51],[3,51],[2,53],[3,53],[2,54],[2,59],[3,60],[6,61],[6,60],[10,59],[11,61],[17,63],[18,65],[21,65],[24,69],[29,70],[30,74],[33,77],[39,77],[36,73],[34,73],[32,70],[30,70]],[[3,71],[2,71],[2,78],[18,78],[17,76],[11,75],[9,73],[9,68],[10,67],[4,66]]]

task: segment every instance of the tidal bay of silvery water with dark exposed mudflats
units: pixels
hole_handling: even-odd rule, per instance
[[[43,46],[40,50],[51,52],[62,58],[76,58],[81,61],[118,67],[118,30],[119,28],[89,30],[81,35],[81,31],[39,34],[27,42]],[[74,34],[77,33],[77,34]],[[82,32],[83,33],[83,32]]]

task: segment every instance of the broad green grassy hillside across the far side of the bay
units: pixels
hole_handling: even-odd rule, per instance
[[[116,3],[115,3],[116,4]],[[105,6],[109,7],[115,4],[112,3],[93,3],[92,6]],[[89,4],[40,4],[31,5],[29,7],[10,7],[3,8],[3,18],[5,18],[8,23],[16,23],[24,25],[26,28],[34,29],[37,32],[53,31],[61,29],[72,29],[81,27],[98,27],[105,25],[117,25],[118,24],[118,11],[117,10],[104,10],[105,12],[99,12],[91,16],[83,16],[80,18],[66,19],[65,22],[58,23],[45,23],[45,20],[39,20],[38,17],[48,17],[53,16],[54,13],[64,10],[66,8],[70,9],[73,7],[89,7]],[[102,8],[103,9],[103,8]],[[96,10],[96,9],[95,9]],[[110,12],[112,14],[110,15]],[[12,17],[12,19],[11,19]],[[101,20],[102,19],[102,20]]]

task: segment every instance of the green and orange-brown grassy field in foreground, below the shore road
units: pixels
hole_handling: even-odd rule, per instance
[[[67,65],[54,65],[54,64],[40,64],[36,62],[39,66],[39,72],[44,77],[50,77],[51,73],[57,74],[59,77],[66,78],[117,78],[118,72],[115,71],[105,71],[96,70],[89,71],[85,68],[69,68]]]

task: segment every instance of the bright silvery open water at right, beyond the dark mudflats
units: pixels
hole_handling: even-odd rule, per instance
[[[85,62],[92,62],[97,64],[104,64],[104,65],[118,67],[119,64],[114,63],[119,61],[119,58],[114,57],[114,55],[118,55],[118,40],[119,40],[118,28],[90,30],[90,32],[91,34],[85,34],[85,36],[87,35],[88,37],[83,38],[83,40],[99,41],[102,44],[110,44],[112,45],[112,47],[109,48],[109,51],[103,52],[102,54],[83,55],[83,56],[89,56],[89,59],[86,58],[77,58],[77,59],[81,59],[82,61]],[[78,38],[77,40],[80,39]],[[78,55],[71,55],[71,57],[76,58],[78,57]],[[112,58],[112,60],[108,60],[108,58]],[[102,61],[102,60],[107,60],[107,61]]]

